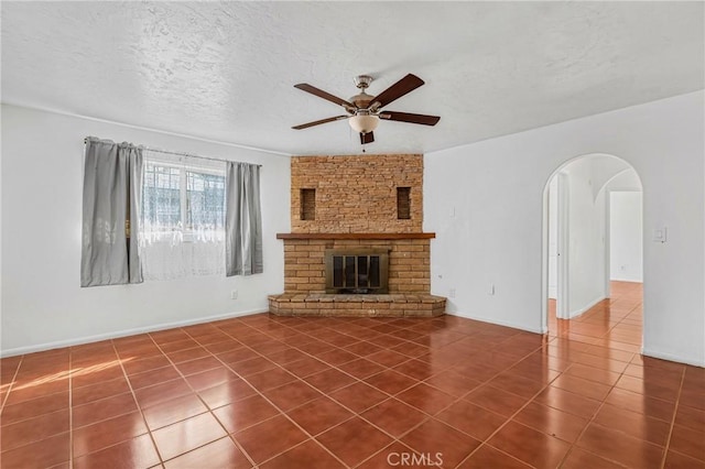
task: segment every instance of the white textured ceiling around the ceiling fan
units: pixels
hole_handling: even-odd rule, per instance
[[[359,153],[293,88],[371,95],[436,127],[382,121],[370,153],[426,153],[703,89],[703,2],[2,1],[2,101],[286,154]],[[109,138],[110,135],[105,135]]]

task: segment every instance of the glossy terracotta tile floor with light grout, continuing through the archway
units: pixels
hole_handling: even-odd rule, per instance
[[[705,468],[705,370],[612,293],[546,336],[263,314],[6,358],[0,465]]]

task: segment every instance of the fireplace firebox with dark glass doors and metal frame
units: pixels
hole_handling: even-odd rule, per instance
[[[326,293],[388,293],[389,249],[326,249]]]

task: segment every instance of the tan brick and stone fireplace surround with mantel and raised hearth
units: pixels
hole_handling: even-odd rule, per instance
[[[423,226],[423,156],[294,156],[284,293],[270,312],[289,316],[438,316],[431,295],[431,239]],[[400,199],[401,197],[401,199]],[[389,252],[388,293],[326,293],[327,250]],[[329,286],[329,285],[328,285]]]

